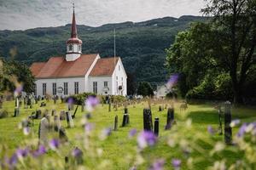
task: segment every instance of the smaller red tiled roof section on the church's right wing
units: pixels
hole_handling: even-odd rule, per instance
[[[111,76],[113,74],[115,65],[117,65],[119,59],[119,57],[98,59],[96,65],[93,67],[92,71],[90,71],[90,76]]]

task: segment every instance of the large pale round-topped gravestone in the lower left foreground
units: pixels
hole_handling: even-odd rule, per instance
[[[48,144],[49,120],[43,117],[39,123],[38,138],[40,144]]]

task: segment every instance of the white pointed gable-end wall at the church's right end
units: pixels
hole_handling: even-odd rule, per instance
[[[117,63],[113,71],[113,94],[115,95],[127,95],[127,76],[125,73],[124,65],[122,64],[121,59]],[[119,86],[123,87],[123,90],[119,90]]]

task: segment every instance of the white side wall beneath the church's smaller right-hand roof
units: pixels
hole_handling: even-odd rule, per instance
[[[108,95],[108,94],[113,94],[112,91],[112,77],[89,77],[89,81],[88,81],[88,88],[90,92],[94,92],[93,91],[93,82],[97,82],[97,94],[101,94],[101,95]],[[108,91],[104,91],[105,87],[104,87],[104,82],[108,82]],[[105,93],[107,92],[107,94]]]

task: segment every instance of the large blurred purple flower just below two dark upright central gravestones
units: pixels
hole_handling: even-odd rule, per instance
[[[139,148],[146,148],[148,145],[152,146],[156,143],[156,136],[151,131],[143,131],[137,137],[137,144]]]

